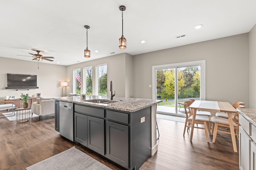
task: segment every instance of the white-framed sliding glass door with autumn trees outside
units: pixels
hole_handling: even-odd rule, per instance
[[[157,113],[186,116],[184,102],[205,100],[205,61],[152,67],[152,99],[160,99]]]

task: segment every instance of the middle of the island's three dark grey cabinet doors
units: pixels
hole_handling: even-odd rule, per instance
[[[104,119],[88,116],[88,148],[105,154]]]

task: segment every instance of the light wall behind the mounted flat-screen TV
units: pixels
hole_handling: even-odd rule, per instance
[[[6,74],[33,74],[37,75],[38,89],[5,89],[7,86]],[[55,64],[38,63],[0,57],[0,101],[4,96],[15,96],[19,98],[21,93],[30,96],[41,93],[41,97],[60,97],[60,82],[66,79],[66,66]]]

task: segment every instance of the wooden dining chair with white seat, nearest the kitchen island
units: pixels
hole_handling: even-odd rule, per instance
[[[191,103],[192,104],[192,103]],[[187,111],[187,107],[191,105],[189,101],[184,102],[184,109],[185,109],[185,113],[186,113],[186,121],[185,121],[185,126],[184,126],[184,131],[183,131],[183,136],[185,135],[186,129],[188,131],[188,129],[190,127],[192,127],[192,119],[193,119],[193,115],[191,115],[191,111],[190,109],[188,109]],[[206,141],[209,142],[209,137],[208,137],[208,133],[210,134],[210,127],[208,122],[210,122],[210,117],[209,116],[203,116],[203,115],[196,115],[196,119],[195,122],[196,124],[201,124],[204,125],[204,127],[198,127],[198,126],[194,126],[194,128],[198,128],[198,129],[204,129],[205,131],[205,135],[206,135]],[[208,131],[208,132],[207,132]]]

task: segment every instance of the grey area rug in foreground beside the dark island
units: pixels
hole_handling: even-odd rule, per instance
[[[26,170],[111,170],[108,166],[88,156],[81,150],[72,147],[41,162],[26,168]]]

